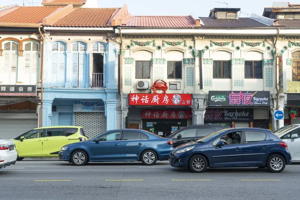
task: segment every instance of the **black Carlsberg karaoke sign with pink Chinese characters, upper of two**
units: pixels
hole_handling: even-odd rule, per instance
[[[209,91],[209,106],[267,107],[270,106],[269,91]]]

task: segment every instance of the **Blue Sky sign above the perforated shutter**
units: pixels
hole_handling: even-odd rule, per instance
[[[74,112],[104,112],[105,106],[102,100],[74,100]]]

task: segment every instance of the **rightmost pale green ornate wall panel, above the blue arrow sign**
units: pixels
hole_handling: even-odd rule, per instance
[[[274,87],[274,59],[266,58],[263,59],[263,69],[264,69],[264,88],[270,89]],[[268,88],[269,87],[269,88]]]

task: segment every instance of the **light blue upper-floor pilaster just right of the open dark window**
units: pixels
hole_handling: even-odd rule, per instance
[[[116,88],[116,78],[115,78],[115,42],[116,42],[116,35],[109,34],[108,35],[108,55],[106,60],[106,73],[105,76],[107,77],[105,80],[106,88]]]

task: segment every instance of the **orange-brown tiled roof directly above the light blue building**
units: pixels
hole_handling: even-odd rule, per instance
[[[77,8],[51,26],[104,27],[117,8]]]

